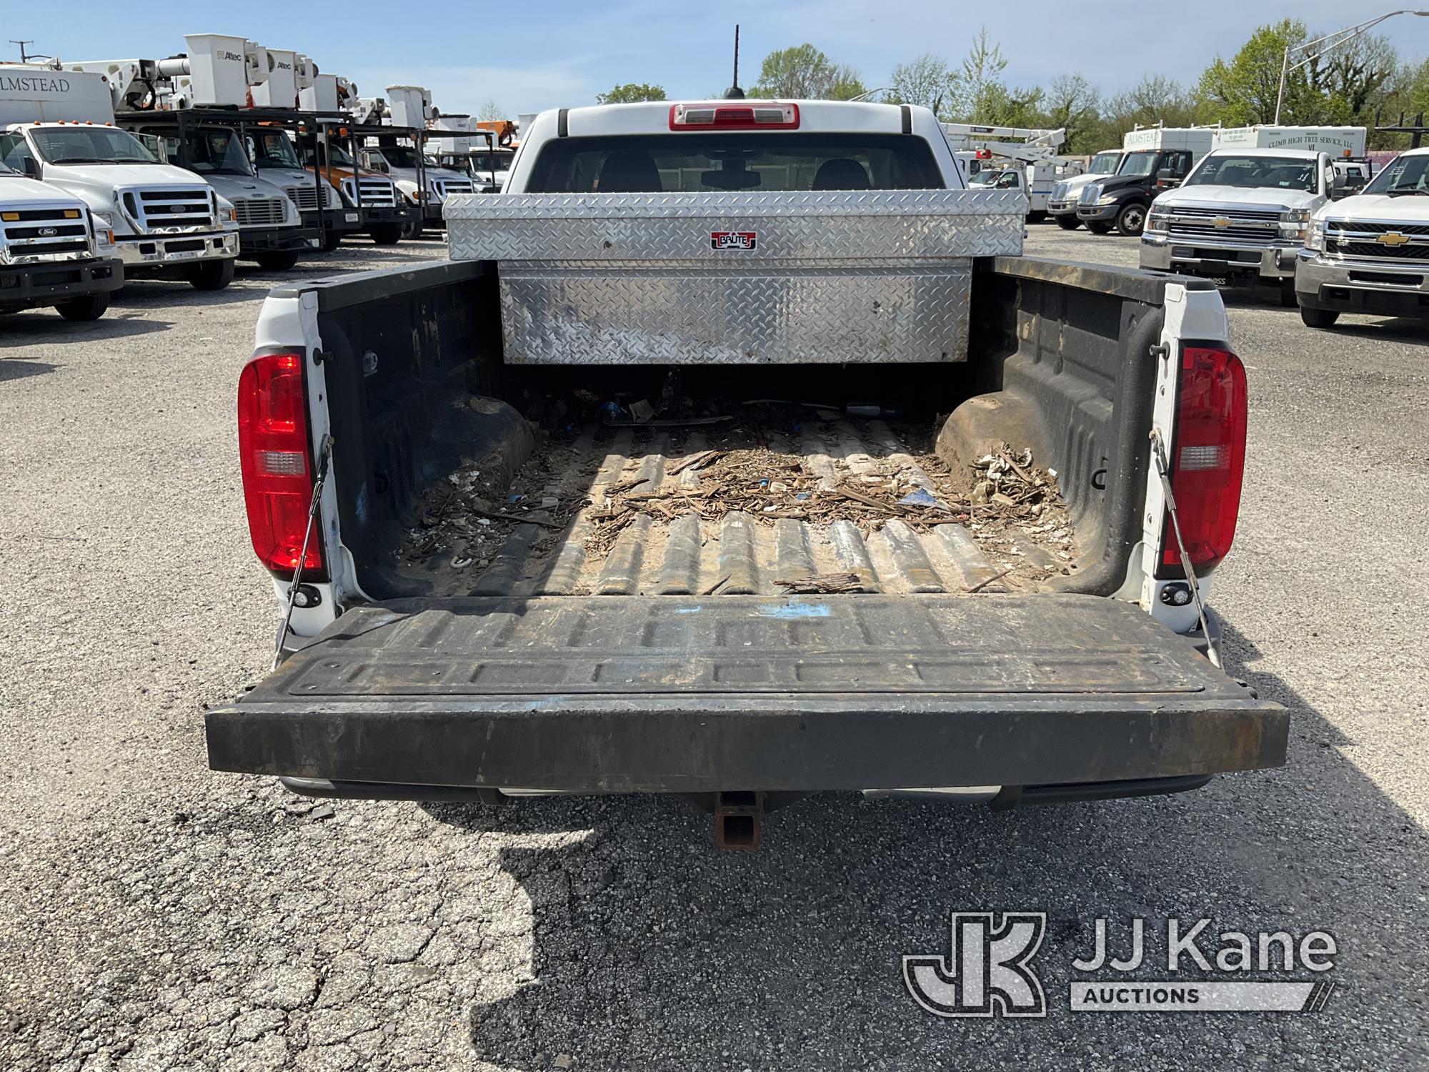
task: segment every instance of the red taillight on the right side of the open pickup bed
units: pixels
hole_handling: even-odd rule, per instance
[[[1230,350],[1182,350],[1172,445],[1170,486],[1180,537],[1196,573],[1206,573],[1235,539],[1246,462],[1246,370]],[[1162,576],[1182,573],[1170,517],[1160,566]]]

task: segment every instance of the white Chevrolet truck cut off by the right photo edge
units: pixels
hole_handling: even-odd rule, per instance
[[[1310,327],[1340,313],[1429,320],[1429,147],[1400,153],[1363,192],[1316,210],[1295,297]]]

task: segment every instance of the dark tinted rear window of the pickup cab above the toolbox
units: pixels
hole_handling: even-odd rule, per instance
[[[527,193],[942,190],[916,134],[619,134],[547,142]]]

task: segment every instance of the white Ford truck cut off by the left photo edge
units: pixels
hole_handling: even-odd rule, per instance
[[[66,320],[97,320],[123,284],[114,236],[89,206],[0,160],[0,314],[53,307]]]

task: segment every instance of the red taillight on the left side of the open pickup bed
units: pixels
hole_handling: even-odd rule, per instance
[[[303,392],[303,357],[264,353],[239,376],[239,457],[253,550],[272,570],[292,573],[307,536],[313,460]],[[314,532],[304,577],[323,577],[322,540]]]

